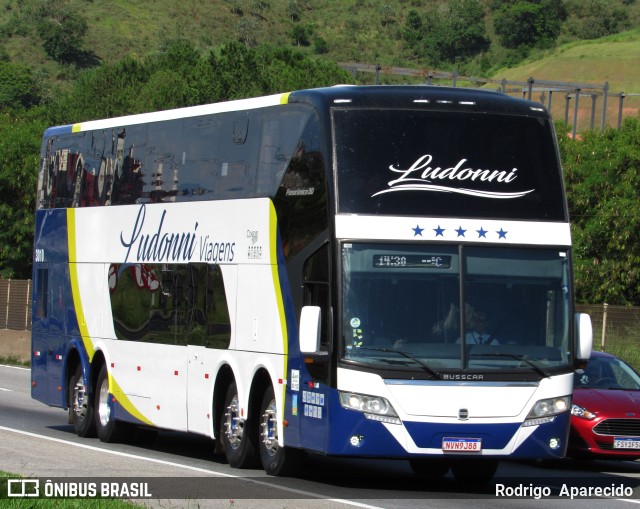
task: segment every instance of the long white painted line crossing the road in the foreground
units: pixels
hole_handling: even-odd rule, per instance
[[[368,504],[362,504],[360,502],[353,502],[351,500],[345,500],[345,499],[341,499],[341,498],[326,498],[322,495],[319,495],[317,493],[312,493],[310,491],[305,491],[305,490],[297,490],[295,488],[288,488],[286,486],[279,486],[279,485],[275,485],[275,484],[270,484],[268,482],[263,482],[263,481],[258,481],[256,479],[247,479],[246,477],[241,477],[238,475],[232,475],[232,474],[224,474],[222,472],[216,472],[215,470],[209,470],[207,468],[200,468],[200,467],[192,467],[191,465],[184,465],[182,463],[175,463],[173,461],[166,461],[166,460],[160,460],[160,459],[155,459],[155,458],[146,458],[144,456],[139,456],[137,454],[130,454],[127,452],[119,452],[119,451],[111,451],[109,449],[102,449],[100,447],[94,447],[92,445],[86,445],[86,444],[79,444],[76,442],[69,442],[68,440],[63,440],[61,438],[54,438],[54,437],[48,437],[45,435],[38,435],[37,433],[31,433],[29,431],[23,431],[20,429],[14,429],[14,428],[7,428],[5,426],[0,426],[0,431],[8,431],[10,433],[17,433],[19,435],[24,435],[24,436],[28,436],[28,437],[32,437],[32,438],[40,438],[43,440],[49,440],[51,442],[57,442],[59,444],[65,444],[65,445],[71,445],[73,447],[79,447],[81,449],[88,449],[90,451],[96,451],[96,452],[103,452],[106,454],[113,454],[114,456],[122,456],[124,458],[131,458],[131,459],[137,459],[137,460],[141,460],[141,461],[148,461],[150,463],[158,463],[160,465],[166,465],[166,466],[170,466],[170,467],[176,467],[176,468],[183,468],[185,470],[191,470],[192,472],[199,472],[199,473],[203,473],[203,474],[213,474],[213,475],[217,475],[220,477],[228,477],[231,479],[238,479],[240,481],[247,481],[247,482],[251,482],[254,484],[258,484],[260,486],[264,486],[267,488],[275,488],[275,489],[280,489],[283,491],[288,491],[290,493],[297,493],[298,495],[302,495],[304,498],[317,498],[317,499],[321,499],[321,500],[328,500],[330,502],[336,502],[339,504],[345,504],[345,505],[350,505],[350,506],[354,506],[354,507],[361,507],[363,509],[382,509],[378,506],[374,506],[374,505],[368,505]]]

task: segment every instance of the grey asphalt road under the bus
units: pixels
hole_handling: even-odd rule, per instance
[[[502,462],[494,481],[469,487],[450,474],[427,482],[414,476],[405,461],[318,456],[310,456],[298,476],[274,478],[262,470],[232,469],[213,455],[212,441],[183,433],[161,432],[152,443],[80,439],[67,424],[64,410],[31,399],[29,370],[8,366],[0,366],[0,470],[38,478],[41,483],[48,480],[49,488],[55,485],[62,490],[92,484],[99,491],[102,483],[112,483],[113,489],[133,494],[144,485],[144,493],[151,496],[136,501],[163,508],[404,509],[472,504],[486,509],[540,509],[587,503],[598,509],[640,504],[640,462],[566,460],[545,467]],[[633,494],[570,498],[572,490],[594,486]]]

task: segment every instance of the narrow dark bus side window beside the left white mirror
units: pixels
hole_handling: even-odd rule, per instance
[[[303,267],[303,305],[320,306],[322,331],[320,349],[327,351],[331,333],[331,301],[329,294],[329,244],[313,253]]]

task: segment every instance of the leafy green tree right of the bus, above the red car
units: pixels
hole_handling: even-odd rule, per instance
[[[577,298],[640,305],[640,117],[582,141],[568,131],[559,125]]]

